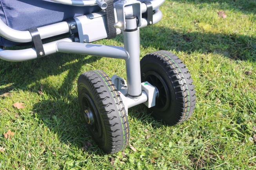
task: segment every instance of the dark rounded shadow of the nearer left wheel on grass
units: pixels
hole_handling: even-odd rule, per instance
[[[65,100],[42,100],[33,106],[38,118],[51,132],[58,136],[58,140],[77,149],[83,149],[89,154],[104,155],[94,143],[84,124],[77,98],[71,102]]]

